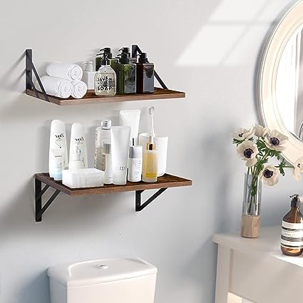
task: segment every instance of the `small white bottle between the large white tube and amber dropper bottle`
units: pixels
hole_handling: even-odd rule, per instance
[[[134,146],[135,139],[133,138],[133,146],[130,146],[128,158],[128,181],[139,182],[142,175],[142,146]]]

